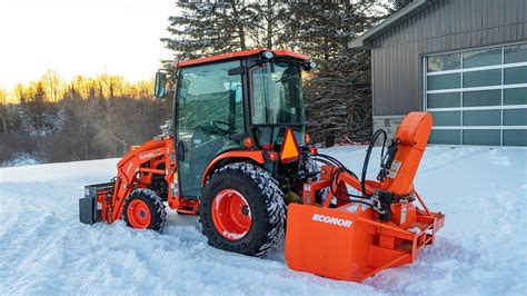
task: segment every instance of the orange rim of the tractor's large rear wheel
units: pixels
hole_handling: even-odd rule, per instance
[[[218,233],[229,240],[241,239],[252,224],[249,203],[237,190],[223,189],[211,205],[212,223]]]

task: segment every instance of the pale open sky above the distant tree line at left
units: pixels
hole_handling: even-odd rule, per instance
[[[0,88],[39,79],[108,72],[150,79],[172,56],[175,0],[0,0]]]

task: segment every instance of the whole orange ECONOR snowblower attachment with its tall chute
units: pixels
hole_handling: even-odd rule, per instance
[[[361,282],[385,268],[412,263],[419,249],[432,244],[445,216],[429,211],[412,186],[431,125],[427,112],[410,112],[402,120],[382,157],[377,181],[365,177],[375,140],[384,134],[386,141],[381,130],[374,134],[361,180],[344,167],[324,165],[320,178],[304,185],[302,205],[289,205],[288,266]],[[314,197],[325,188],[329,193],[324,204],[316,205]],[[350,194],[349,188],[361,195]]]

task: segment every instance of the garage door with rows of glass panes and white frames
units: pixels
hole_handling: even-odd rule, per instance
[[[527,43],[425,58],[431,144],[527,146]]]

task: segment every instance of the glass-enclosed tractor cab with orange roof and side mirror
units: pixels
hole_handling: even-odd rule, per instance
[[[180,196],[201,195],[203,174],[210,172],[220,155],[231,152],[232,160],[250,151],[278,152],[288,129],[304,145],[301,73],[315,67],[304,55],[247,50],[176,62],[170,71],[158,72],[157,97],[165,96],[167,77],[176,86]],[[277,169],[270,164],[266,168]]]

